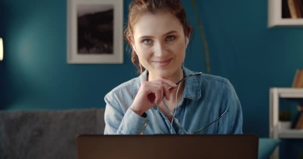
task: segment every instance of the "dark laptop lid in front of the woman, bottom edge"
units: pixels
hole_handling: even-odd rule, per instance
[[[257,159],[256,135],[80,135],[78,159]]]

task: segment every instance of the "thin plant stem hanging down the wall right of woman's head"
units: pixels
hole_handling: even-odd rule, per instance
[[[197,9],[197,4],[196,4],[196,0],[191,0],[191,4],[193,6],[194,9],[194,13],[196,15],[196,19],[198,22],[198,29],[199,29],[199,33],[203,39],[203,43],[204,43],[204,47],[205,47],[205,67],[207,69],[207,73],[210,74],[210,62],[209,62],[209,51],[208,51],[208,44],[207,44],[207,40],[205,37],[205,33],[203,31],[203,26],[201,24],[200,21],[200,17],[199,17],[199,13],[198,13],[198,9]]]

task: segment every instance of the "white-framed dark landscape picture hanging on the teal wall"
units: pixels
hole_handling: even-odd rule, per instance
[[[123,64],[123,0],[67,0],[67,63]]]

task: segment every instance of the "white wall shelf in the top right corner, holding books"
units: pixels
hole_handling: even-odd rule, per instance
[[[303,18],[282,18],[282,0],[268,0],[268,27],[303,26]]]

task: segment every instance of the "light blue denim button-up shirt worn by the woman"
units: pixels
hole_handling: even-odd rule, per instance
[[[185,77],[193,72],[184,68],[183,73]],[[147,80],[147,74],[146,70],[106,94],[104,134],[184,134],[175,122],[171,127],[170,121],[157,106],[146,111],[146,117],[130,108],[140,88],[141,76]],[[208,125],[228,110],[222,118],[198,134],[242,134],[241,104],[228,79],[207,74],[185,79],[183,98],[174,110],[175,117],[188,133]]]

